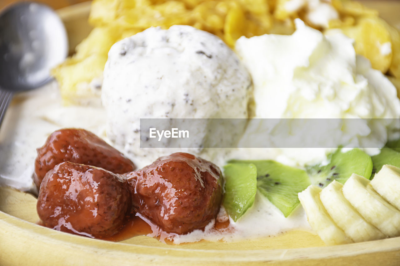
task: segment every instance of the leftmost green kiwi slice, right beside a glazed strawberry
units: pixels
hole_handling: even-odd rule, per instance
[[[236,222],[253,205],[257,192],[257,168],[251,163],[224,166],[225,195],[223,205]]]

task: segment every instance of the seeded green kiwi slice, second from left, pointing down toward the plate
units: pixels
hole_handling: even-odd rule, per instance
[[[297,194],[310,185],[306,171],[276,161],[233,161],[257,167],[257,188],[285,217],[300,203]]]

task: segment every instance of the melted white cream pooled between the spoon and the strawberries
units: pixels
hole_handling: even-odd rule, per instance
[[[17,94],[0,129],[0,185],[22,191],[34,189],[36,149],[53,131],[77,127],[102,136],[104,120],[102,108],[62,106],[55,82]]]

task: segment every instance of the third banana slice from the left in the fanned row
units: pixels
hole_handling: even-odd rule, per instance
[[[342,192],[365,220],[382,233],[391,237],[400,235],[400,211],[376,193],[368,179],[352,174]]]

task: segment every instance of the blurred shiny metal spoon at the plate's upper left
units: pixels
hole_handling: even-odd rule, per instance
[[[64,24],[48,6],[21,2],[0,13],[0,126],[13,94],[46,84],[66,56]]]

